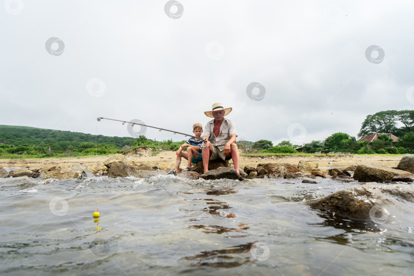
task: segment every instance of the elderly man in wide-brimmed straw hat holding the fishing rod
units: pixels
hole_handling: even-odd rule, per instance
[[[236,127],[232,121],[224,118],[232,111],[232,107],[223,108],[222,103],[213,104],[211,111],[205,111],[206,116],[214,118],[205,125],[203,148],[201,151],[204,173],[209,170],[209,160],[233,159],[234,168],[239,171],[239,149],[236,145]]]

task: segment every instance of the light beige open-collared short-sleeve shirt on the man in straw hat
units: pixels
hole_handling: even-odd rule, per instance
[[[214,134],[214,119],[205,125],[203,136],[209,137],[210,143],[222,151],[228,140],[230,140],[230,135],[232,134],[236,134],[237,137],[236,126],[231,120],[223,118],[218,137]]]

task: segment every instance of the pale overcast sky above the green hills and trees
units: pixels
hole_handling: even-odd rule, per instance
[[[413,109],[413,1],[2,1],[0,124],[192,134],[222,102],[238,140],[303,144]]]

